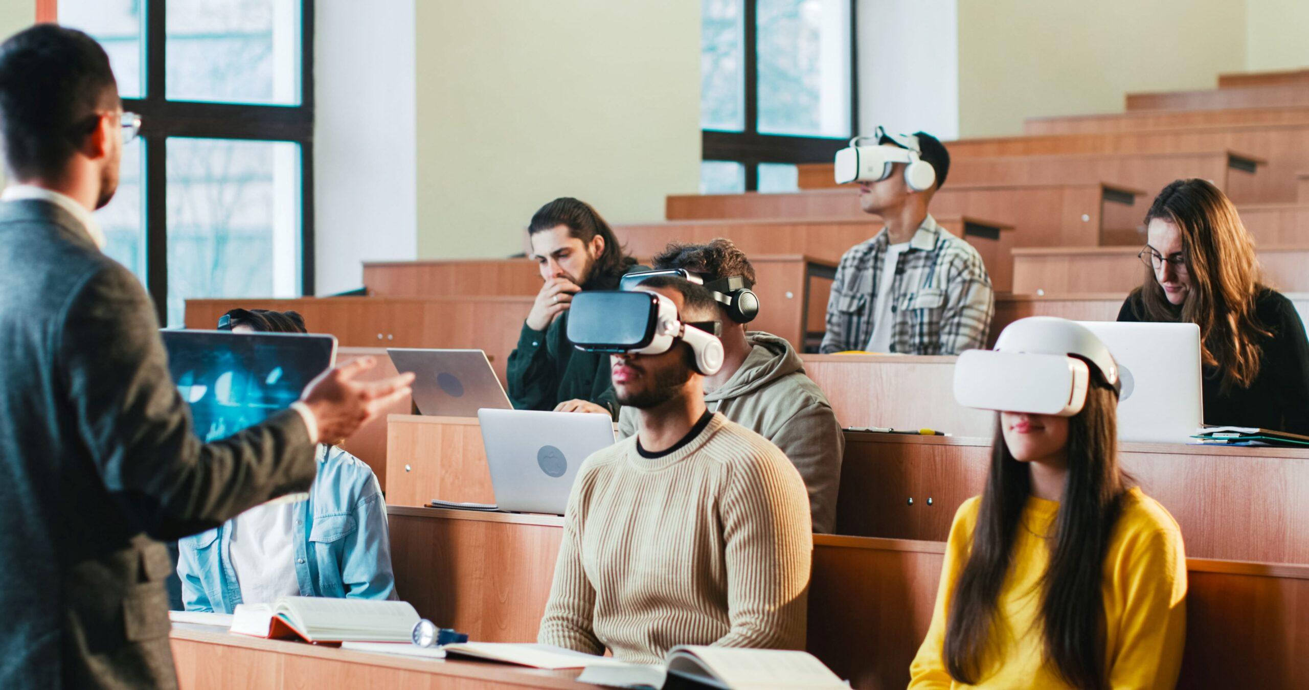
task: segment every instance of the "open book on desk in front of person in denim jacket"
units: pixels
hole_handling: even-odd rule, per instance
[[[410,642],[419,615],[407,601],[281,597],[274,604],[237,604],[232,632],[314,644]]]

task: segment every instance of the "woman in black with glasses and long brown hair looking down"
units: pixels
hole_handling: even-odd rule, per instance
[[[1195,323],[1204,422],[1309,435],[1309,339],[1261,281],[1254,240],[1211,182],[1178,179],[1145,213],[1147,274],[1118,321]]]

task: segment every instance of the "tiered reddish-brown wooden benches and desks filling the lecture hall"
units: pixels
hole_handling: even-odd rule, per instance
[[[1026,135],[946,143],[954,168],[933,215],[983,255],[997,287],[992,336],[1034,314],[1113,319],[1145,270],[1141,216],[1174,177],[1206,177],[1237,202],[1270,284],[1309,304],[1309,72],[1225,75],[1219,89],[1134,94],[1127,111],[1030,119]],[[1144,110],[1148,107],[1149,110]],[[669,196],[668,223],[615,228],[648,259],[674,240],[728,237],[766,295],[759,323],[797,346],[823,329],[840,254],[878,230],[830,165],[795,194]],[[983,220],[986,219],[986,220]],[[539,285],[524,259],[369,264],[368,297],[196,300],[187,325],[232,306],[301,310],[342,356],[380,347],[480,347],[504,372]],[[355,350],[374,348],[374,350]],[[950,518],[980,491],[992,415],[958,407],[954,357],[804,355],[847,427],[931,427],[948,437],[847,431],[838,536],[814,537],[809,651],[855,687],[903,687],[931,618]],[[378,372],[378,376],[385,372]],[[476,419],[414,416],[347,446],[384,478],[401,597],[475,639],[526,642],[550,588],[562,518],[423,505],[492,500]],[[1309,450],[1122,444],[1122,462],[1182,528],[1190,571],[1179,687],[1297,687],[1309,678]],[[241,674],[569,687],[522,676],[174,631],[183,686]],[[217,652],[216,652],[217,651]],[[208,674],[208,676],[206,676]],[[314,676],[318,674],[318,676]],[[493,674],[487,676],[487,674]],[[424,678],[425,676],[425,678]],[[441,676],[435,678],[433,676]],[[242,676],[253,678],[254,676]]]

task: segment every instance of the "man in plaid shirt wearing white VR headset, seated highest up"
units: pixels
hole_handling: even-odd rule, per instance
[[[836,153],[838,183],[857,182],[864,212],[885,227],[840,258],[821,352],[958,355],[986,347],[995,296],[973,245],[928,213],[950,154],[932,135],[890,135]]]

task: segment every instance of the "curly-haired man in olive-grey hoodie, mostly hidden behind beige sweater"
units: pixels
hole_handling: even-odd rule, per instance
[[[654,268],[683,268],[707,287],[732,278],[754,285],[754,267],[730,240],[706,245],[672,244],[654,257]],[[764,305],[763,308],[767,308]],[[709,411],[768,439],[791,458],[809,490],[814,532],[831,532],[836,522],[836,492],[846,437],[827,397],[808,376],[791,343],[770,333],[746,331],[728,305],[720,305],[723,369],[704,378]],[[636,416],[623,410],[622,437],[636,433]]]

